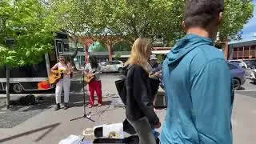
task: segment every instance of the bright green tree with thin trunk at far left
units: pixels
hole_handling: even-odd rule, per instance
[[[54,32],[60,26],[38,0],[0,2],[0,66],[6,66],[6,108],[9,108],[9,67],[36,64],[51,50]],[[14,39],[12,45],[8,39]]]

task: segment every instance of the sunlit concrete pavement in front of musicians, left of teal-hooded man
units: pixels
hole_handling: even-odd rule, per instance
[[[63,138],[70,136],[70,134],[82,135],[82,131],[86,128],[122,122],[125,119],[125,110],[123,108],[102,106],[101,108],[94,107],[86,110],[91,112],[91,118],[95,122],[83,118],[70,122],[70,119],[82,116],[83,110],[81,106],[58,111],[54,111],[52,108],[14,128],[0,129],[0,143],[58,143]],[[164,118],[165,110],[159,110],[158,114],[161,119]],[[87,141],[93,139],[93,136],[85,138]]]

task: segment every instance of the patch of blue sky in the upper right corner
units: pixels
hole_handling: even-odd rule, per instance
[[[256,39],[256,0],[254,0],[254,17],[243,26],[242,41]]]

